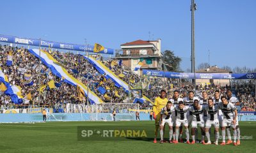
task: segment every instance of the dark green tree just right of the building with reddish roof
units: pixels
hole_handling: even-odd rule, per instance
[[[182,59],[179,56],[175,56],[173,51],[165,50],[162,61],[166,71],[180,71],[179,67]]]

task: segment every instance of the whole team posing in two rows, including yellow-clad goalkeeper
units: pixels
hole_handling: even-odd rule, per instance
[[[189,91],[188,97],[182,99],[179,97],[179,91],[174,91],[173,97],[170,100],[166,98],[166,91],[162,90],[153,106],[153,117],[156,120],[154,143],[157,143],[156,138],[159,127],[161,136],[160,143],[164,142],[164,124],[168,124],[170,129],[170,143],[179,143],[178,140],[183,142],[182,126],[185,127],[186,143],[199,143],[197,136],[197,128],[199,126],[202,135],[200,143],[209,145],[211,144],[211,126],[213,126],[215,135],[214,144],[218,145],[220,126],[223,139],[220,145],[230,143],[240,145],[240,129],[235,106],[237,101],[237,98],[232,96],[230,89],[227,90],[227,97],[220,97],[220,91],[215,91],[214,97],[208,98],[207,92],[203,91],[202,99],[195,97],[193,91]],[[192,142],[189,142],[189,126],[191,126]],[[226,129],[227,143],[225,142]],[[230,129],[233,129],[233,142]],[[207,138],[207,143],[204,141],[205,137]]]

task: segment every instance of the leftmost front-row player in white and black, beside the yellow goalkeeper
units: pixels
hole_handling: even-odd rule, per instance
[[[161,140],[160,140],[160,143],[163,143],[164,142],[164,139],[163,139],[163,135],[164,135],[164,132],[163,132],[163,128],[164,128],[164,124],[167,123],[168,126],[169,126],[169,135],[170,135],[170,138],[169,138],[169,142],[172,143],[172,135],[173,135],[173,121],[172,121],[172,113],[174,111],[174,107],[172,106],[172,102],[171,101],[168,101],[166,106],[164,108],[161,109],[161,117],[160,117],[160,136],[161,136]]]

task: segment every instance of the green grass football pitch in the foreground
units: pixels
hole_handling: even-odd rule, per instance
[[[140,128],[154,133],[154,121],[40,122],[0,124],[0,152],[255,152],[256,122],[239,122],[241,145],[153,143],[150,138],[122,140],[77,140],[77,126]],[[221,133],[220,133],[221,134]],[[199,136],[200,137],[200,136]],[[213,140],[213,136],[211,138]],[[219,141],[221,142],[221,140]]]

